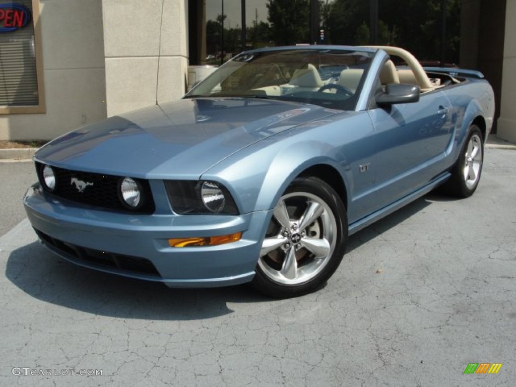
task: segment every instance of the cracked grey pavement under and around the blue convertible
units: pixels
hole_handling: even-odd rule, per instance
[[[292,300],[75,267],[22,221],[0,236],[0,385],[513,386],[515,166],[487,149],[472,198],[429,195],[352,236],[328,285]]]

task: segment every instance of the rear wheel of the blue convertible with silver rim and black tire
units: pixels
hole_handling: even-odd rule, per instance
[[[451,169],[451,177],[440,187],[439,192],[458,198],[472,196],[482,174],[483,154],[482,132],[473,124],[462,145],[459,158]]]

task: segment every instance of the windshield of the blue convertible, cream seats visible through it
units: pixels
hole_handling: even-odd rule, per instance
[[[265,98],[353,110],[373,56],[323,47],[242,53],[185,98]]]

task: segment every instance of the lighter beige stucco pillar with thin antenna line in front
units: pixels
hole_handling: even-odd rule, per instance
[[[187,0],[103,0],[107,115],[185,92]]]

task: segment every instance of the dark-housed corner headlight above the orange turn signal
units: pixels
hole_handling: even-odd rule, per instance
[[[175,213],[236,215],[238,210],[228,189],[213,181],[166,181],[167,193]]]

